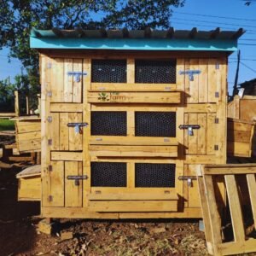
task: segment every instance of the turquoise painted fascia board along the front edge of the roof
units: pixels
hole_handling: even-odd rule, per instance
[[[124,49],[124,50],[207,50],[236,51],[237,41],[223,39],[167,39],[167,38],[34,38],[35,49]]]

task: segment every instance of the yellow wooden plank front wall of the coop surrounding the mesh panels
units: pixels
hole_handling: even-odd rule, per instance
[[[195,169],[200,164],[225,163],[226,58],[179,56],[176,84],[135,84],[134,57],[136,56],[127,56],[127,83],[108,84],[91,83],[91,56],[80,55],[74,58],[72,54],[65,53],[57,57],[52,57],[51,54],[41,55],[44,216],[117,216],[115,213],[106,215],[107,213],[95,212],[91,215],[88,212],[89,195],[99,190],[90,188],[91,160],[109,161],[111,158],[113,162],[126,162],[128,166],[127,188],[101,188],[101,191],[144,191],[146,194],[150,189],[134,188],[135,162],[176,163],[177,177],[195,176]],[[113,55],[113,58],[125,58],[125,55]],[[194,69],[201,70],[201,74],[195,75],[193,81],[187,75],[179,74],[179,71]],[[86,72],[87,75],[77,81],[73,76],[67,75],[73,71]],[[102,90],[109,95],[118,91],[120,97],[113,98],[112,102],[101,102],[98,94]],[[113,110],[127,113],[127,137],[101,136],[99,140],[99,137],[90,136],[90,112]],[[177,136],[166,140],[162,137],[135,137],[136,111],[177,112]],[[89,126],[81,134],[73,127],[67,127],[67,123],[73,122],[87,122]],[[193,131],[194,136],[189,136],[178,125],[201,125],[201,128]],[[140,158],[135,160],[134,154]],[[83,174],[89,178],[80,182],[79,186],[74,181],[67,180],[67,176]],[[137,214],[137,218],[201,217],[197,182],[194,181],[193,186],[189,187],[186,181],[180,181],[177,177],[176,186],[170,191],[183,197],[185,208],[179,207],[179,212],[142,212]],[[155,189],[157,190],[164,191]],[[57,209],[59,207],[62,212]],[[97,211],[98,207],[97,204]],[[131,213],[119,215],[119,218],[129,217],[132,218]]]

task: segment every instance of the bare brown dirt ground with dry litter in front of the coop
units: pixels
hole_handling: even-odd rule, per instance
[[[17,202],[15,174],[0,171],[0,255],[207,255],[198,220],[55,220],[52,236],[37,231],[39,204]],[[61,231],[73,239],[61,241]]]

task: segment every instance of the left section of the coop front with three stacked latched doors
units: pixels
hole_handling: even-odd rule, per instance
[[[83,207],[84,122],[82,59],[41,58],[42,207]]]

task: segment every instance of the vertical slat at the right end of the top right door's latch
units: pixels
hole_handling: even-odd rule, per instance
[[[208,101],[208,60],[199,59],[199,84],[198,84],[198,102],[203,103]]]

